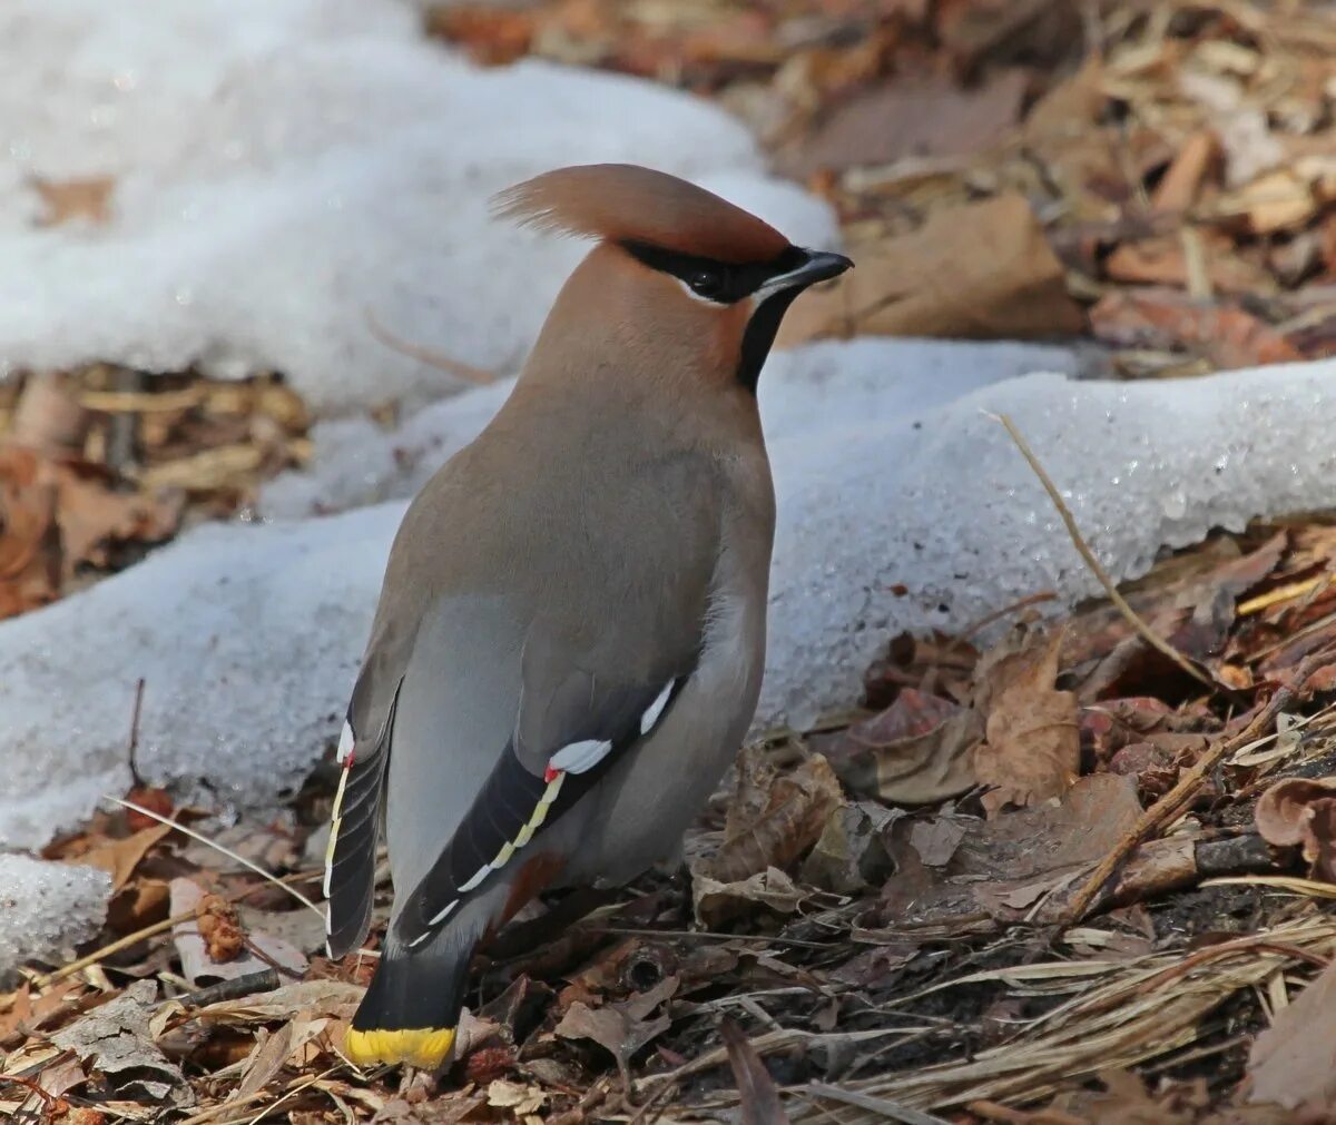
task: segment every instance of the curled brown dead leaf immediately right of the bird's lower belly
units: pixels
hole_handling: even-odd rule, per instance
[[[739,796],[729,806],[724,840],[696,868],[720,883],[787,867],[816,842],[831,812],[843,803],[839,782],[819,754],[776,775],[754,751],[744,750],[737,775]]]

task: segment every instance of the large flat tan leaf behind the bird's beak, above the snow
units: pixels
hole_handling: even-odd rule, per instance
[[[1019,195],[933,211],[919,230],[850,253],[858,269],[794,307],[782,346],[855,334],[1033,338],[1085,326]]]

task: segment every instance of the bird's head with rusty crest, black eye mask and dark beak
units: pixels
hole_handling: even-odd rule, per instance
[[[647,369],[683,362],[751,391],[794,298],[854,265],[635,164],[557,168],[494,206],[526,226],[599,240],[557,298],[536,355],[588,362],[577,353],[615,345]]]

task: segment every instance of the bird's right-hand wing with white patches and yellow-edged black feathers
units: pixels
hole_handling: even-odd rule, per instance
[[[608,768],[663,721],[693,653],[643,677],[585,667],[569,633],[537,621],[522,655],[514,734],[464,819],[397,911],[407,946],[430,938],[474,891],[522,856]],[[596,647],[597,648],[597,647]],[[516,862],[518,866],[518,862]],[[510,872],[508,872],[510,874]]]

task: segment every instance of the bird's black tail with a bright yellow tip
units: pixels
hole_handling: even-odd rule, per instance
[[[343,1053],[358,1066],[403,1062],[434,1070],[450,1057],[464,1006],[469,947],[387,943],[358,1005]]]

